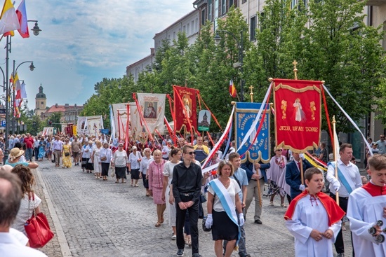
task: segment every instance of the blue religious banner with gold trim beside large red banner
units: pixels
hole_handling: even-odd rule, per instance
[[[265,116],[264,120],[258,121],[255,126],[253,132],[249,135],[249,139],[246,143],[241,146],[240,144],[243,141],[246,133],[251,128],[253,121],[256,119],[258,112],[261,108],[261,103],[248,103],[248,102],[238,102],[236,103],[236,115],[234,116],[234,127],[235,127],[235,138],[236,138],[236,148],[239,149],[237,151],[240,155],[243,155],[244,158],[241,159],[241,162],[246,162],[246,160],[250,162],[264,162],[267,163],[270,160],[270,126],[269,126],[269,104],[266,104]],[[262,122],[262,127],[260,133],[255,139],[258,127]],[[253,140],[255,139],[255,141]],[[245,155],[244,155],[245,153]]]

